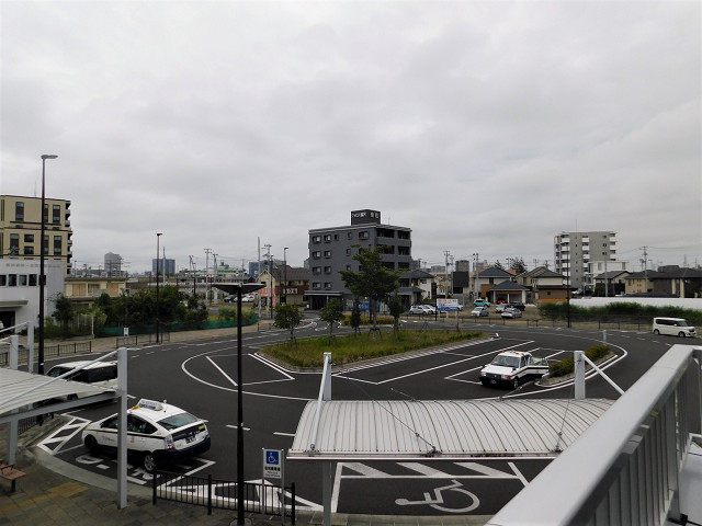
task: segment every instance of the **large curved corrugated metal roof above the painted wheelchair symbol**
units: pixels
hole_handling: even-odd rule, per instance
[[[557,455],[613,402],[444,400],[308,402],[291,459],[435,459]],[[561,438],[559,438],[561,433]]]

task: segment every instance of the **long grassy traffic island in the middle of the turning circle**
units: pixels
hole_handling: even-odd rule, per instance
[[[263,352],[294,367],[321,367],[324,353],[331,353],[333,363],[343,365],[485,336],[479,331],[400,331],[382,333],[374,340],[365,333],[298,340],[265,347]]]

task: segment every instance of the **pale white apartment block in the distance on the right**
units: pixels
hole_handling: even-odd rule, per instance
[[[574,289],[592,288],[595,276],[590,261],[616,261],[616,232],[561,232],[554,237],[553,244],[554,271],[563,274]]]

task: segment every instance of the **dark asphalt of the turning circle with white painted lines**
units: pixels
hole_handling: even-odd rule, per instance
[[[424,320],[405,322],[406,328]],[[471,325],[473,327],[473,325]],[[529,351],[536,356],[562,359],[573,351],[586,350],[607,339],[618,359],[605,373],[627,389],[671,345],[669,336],[635,332],[602,332],[478,325],[490,340],[457,344],[442,352],[388,358],[372,365],[336,371],[332,398],[348,400],[479,399],[507,391],[483,387],[478,369],[505,350]],[[326,323],[306,320],[298,338],[322,335]],[[336,330],[339,334],[343,329]],[[287,331],[246,334],[242,350],[245,473],[260,480],[261,449],[291,446],[298,418],[308,400],[317,398],[318,373],[292,373],[258,354],[271,343],[288,338]],[[697,342],[697,340],[695,340]],[[686,342],[689,343],[689,342]],[[128,392],[139,398],[167,400],[205,419],[212,435],[206,454],[173,467],[183,473],[236,479],[237,342],[222,341],[162,344],[129,351]],[[571,398],[573,386],[530,385],[513,395],[520,398]],[[616,391],[603,379],[587,381],[587,396],[616,399]],[[115,477],[114,460],[91,456],[80,443],[82,426],[114,412],[101,405],[70,413],[71,424],[46,439],[42,447],[58,458],[92,472]],[[491,515],[500,510],[547,460],[499,459],[477,462],[346,462],[335,471],[333,505],[339,513],[437,515]],[[321,468],[307,462],[286,464],[285,481],[296,483],[297,505],[319,508]],[[129,469],[131,482],[147,484],[151,476],[139,466]]]

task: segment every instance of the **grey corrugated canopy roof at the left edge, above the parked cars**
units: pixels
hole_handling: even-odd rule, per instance
[[[53,381],[52,381],[53,380]],[[0,415],[52,398],[112,391],[81,381],[68,381],[22,370],[0,368]]]

